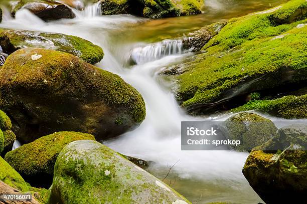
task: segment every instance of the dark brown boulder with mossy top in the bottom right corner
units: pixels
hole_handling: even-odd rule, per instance
[[[243,174],[265,203],[305,203],[306,141],[306,125],[288,125],[249,154]]]

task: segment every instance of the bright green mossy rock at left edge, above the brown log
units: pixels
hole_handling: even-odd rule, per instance
[[[0,180],[21,191],[29,190],[29,186],[21,175],[0,157]]]

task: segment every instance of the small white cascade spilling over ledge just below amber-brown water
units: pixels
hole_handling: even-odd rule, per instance
[[[130,60],[135,64],[143,64],[185,52],[188,52],[188,50],[184,49],[183,40],[164,40],[159,43],[134,48],[131,51]]]

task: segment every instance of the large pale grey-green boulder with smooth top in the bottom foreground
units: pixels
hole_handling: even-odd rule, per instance
[[[178,192],[96,141],[63,148],[49,203],[190,203]]]

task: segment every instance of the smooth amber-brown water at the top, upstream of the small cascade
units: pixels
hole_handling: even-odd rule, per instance
[[[203,14],[126,25],[119,37],[125,37],[124,41],[144,42],[182,37],[206,25],[265,10],[285,2],[287,0],[205,0]]]

